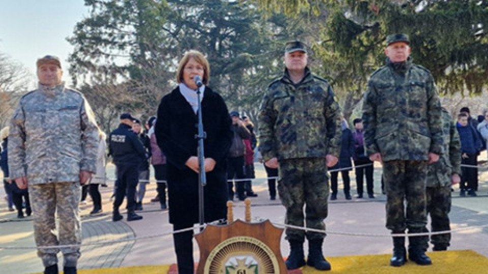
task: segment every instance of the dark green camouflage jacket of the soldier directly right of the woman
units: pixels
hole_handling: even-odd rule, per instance
[[[288,71],[272,82],[259,111],[259,150],[263,161],[325,157],[339,158],[341,110],[326,80],[306,75],[293,84]]]

